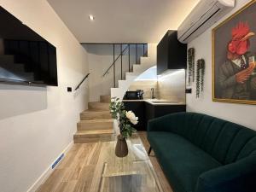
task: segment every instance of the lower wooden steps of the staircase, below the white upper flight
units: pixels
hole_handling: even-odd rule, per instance
[[[113,137],[113,119],[109,113],[110,96],[101,96],[100,102],[89,102],[88,110],[80,113],[74,143],[110,141]]]

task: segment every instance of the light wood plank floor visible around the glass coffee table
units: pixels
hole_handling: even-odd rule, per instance
[[[146,132],[138,132],[138,134],[144,147],[148,150],[149,144]],[[70,149],[37,192],[89,192],[101,148],[102,143],[74,144],[73,148]],[[150,160],[164,192],[172,192],[160,165],[154,157],[154,152],[150,155]]]

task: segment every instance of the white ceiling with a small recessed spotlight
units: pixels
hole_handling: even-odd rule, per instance
[[[199,0],[48,0],[80,43],[158,43]],[[90,21],[89,15],[95,20]]]

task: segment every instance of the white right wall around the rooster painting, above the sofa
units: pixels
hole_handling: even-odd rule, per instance
[[[236,8],[233,9],[229,15],[235,13],[236,10],[240,9],[248,2],[249,0],[236,0]],[[229,15],[226,15],[222,20]],[[218,23],[216,25],[218,25]],[[213,27],[214,26],[212,26],[212,28]],[[246,125],[256,130],[255,105],[212,102],[212,28],[208,29],[207,32],[204,32],[189,44],[189,47],[195,47],[195,60],[199,58],[205,59],[206,75],[205,90],[201,98],[195,98],[195,84],[192,86],[193,94],[187,94],[187,110],[207,113],[221,119],[227,119],[241,125]]]

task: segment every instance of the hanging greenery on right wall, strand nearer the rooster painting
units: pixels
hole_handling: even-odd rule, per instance
[[[204,90],[205,77],[205,60],[200,59],[196,62],[196,98],[199,98],[200,93]]]

